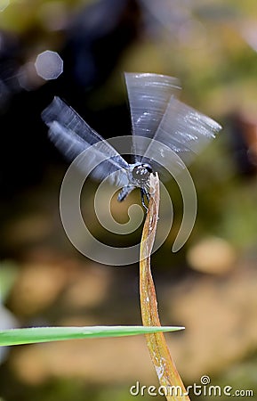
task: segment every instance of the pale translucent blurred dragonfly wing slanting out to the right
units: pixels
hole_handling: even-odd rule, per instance
[[[172,97],[142,162],[150,162],[157,171],[162,165],[176,173],[183,164],[179,158],[171,157],[166,147],[189,164],[220,130],[220,124],[213,119]],[[158,165],[155,160],[159,160]]]

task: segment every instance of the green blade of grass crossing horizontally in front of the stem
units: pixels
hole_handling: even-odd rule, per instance
[[[85,327],[33,327],[0,331],[0,346],[32,344],[36,342],[121,337],[156,331],[178,331],[183,327],[144,326],[85,326]]]

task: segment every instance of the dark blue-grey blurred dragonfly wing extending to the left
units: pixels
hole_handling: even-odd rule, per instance
[[[90,158],[88,154],[78,160],[77,168],[87,174],[92,166],[98,164],[92,170],[91,176],[96,180],[102,180],[110,174],[108,181],[111,184],[127,185],[128,178],[126,169],[128,163],[120,154],[99,134],[97,134],[82,119],[75,110],[55,97],[52,103],[43,111],[42,119],[50,128],[49,137],[52,143],[61,151],[67,160],[73,161],[80,153],[92,147]],[[96,144],[97,143],[97,144]],[[103,160],[104,161],[101,161]]]

